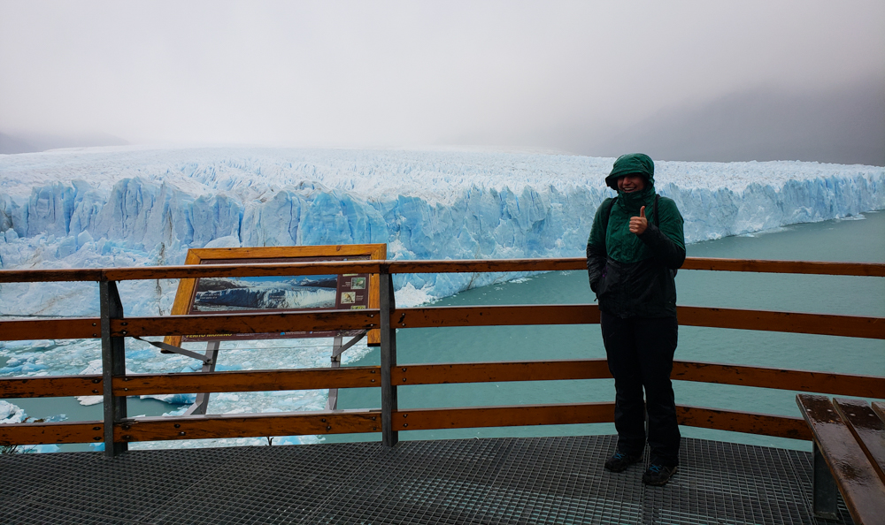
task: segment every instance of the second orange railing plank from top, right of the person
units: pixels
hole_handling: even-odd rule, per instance
[[[851,338],[885,339],[885,317],[831,316],[734,308],[677,307],[682,326],[786,331]]]

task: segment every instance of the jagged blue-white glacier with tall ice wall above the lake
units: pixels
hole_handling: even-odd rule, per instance
[[[391,259],[581,256],[612,159],[516,153],[88,148],[0,156],[4,269],[183,263],[189,247],[386,242]],[[885,209],[885,169],[658,162],[686,240]],[[500,274],[397,276],[412,301]],[[175,282],[129,283],[127,315]],[[0,314],[96,315],[91,285],[4,285]]]

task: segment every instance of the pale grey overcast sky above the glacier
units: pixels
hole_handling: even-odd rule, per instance
[[[794,99],[773,141],[853,110],[885,159],[885,2],[0,0],[7,135],[675,158],[735,101],[742,142]]]

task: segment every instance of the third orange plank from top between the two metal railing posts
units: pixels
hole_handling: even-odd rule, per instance
[[[114,377],[117,396],[199,392],[272,392],[381,386],[381,367],[249,370]]]

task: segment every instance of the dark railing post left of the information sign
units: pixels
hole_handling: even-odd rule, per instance
[[[101,280],[98,293],[102,314],[102,384],[104,385],[104,454],[109,458],[128,450],[126,442],[114,442],[114,423],[126,418],[126,396],[113,395],[113,378],[126,375],[126,343],[111,337],[111,320],[123,318],[117,283]]]

